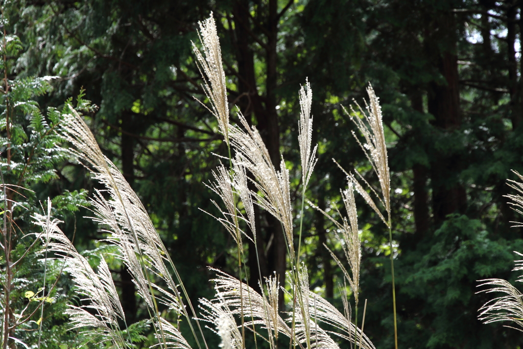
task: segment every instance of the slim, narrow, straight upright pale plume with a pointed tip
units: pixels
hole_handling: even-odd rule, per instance
[[[301,171],[303,187],[306,188],[311,179],[312,171],[316,165],[316,147],[311,152],[312,144],[312,89],[309,80],[306,80],[305,86],[300,88],[300,121],[298,141],[300,144]]]

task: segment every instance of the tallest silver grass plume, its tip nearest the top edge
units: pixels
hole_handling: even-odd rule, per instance
[[[203,46],[203,54],[191,41],[192,50],[196,54],[198,69],[203,78],[203,91],[211,102],[212,110],[208,109],[217,118],[220,131],[229,145],[229,104],[225,87],[225,72],[222,66],[220,40],[212,12],[208,19],[200,21],[198,24],[200,26],[198,36]],[[198,102],[200,101],[198,100]],[[201,104],[203,105],[203,103]]]

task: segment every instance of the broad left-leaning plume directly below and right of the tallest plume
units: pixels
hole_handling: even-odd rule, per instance
[[[234,162],[253,174],[259,194],[252,192],[252,196],[261,208],[281,222],[290,256],[294,259],[289,171],[283,159],[280,163],[281,170],[276,171],[258,130],[249,126],[240,112],[238,118],[245,131],[237,126],[229,126],[231,144],[237,152]]]

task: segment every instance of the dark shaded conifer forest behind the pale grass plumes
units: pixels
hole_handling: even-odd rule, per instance
[[[513,251],[523,252],[523,231],[510,223],[521,218],[504,198],[511,193],[506,179],[515,179],[510,170],[523,171],[521,5],[518,0],[4,2],[4,43],[16,36],[19,47],[16,54],[4,50],[2,75],[4,82],[52,76],[47,93],[37,97],[42,110],[61,107],[85,89],[84,98],[99,107],[86,118],[101,149],[142,199],[193,303],[212,295],[208,266],[238,275],[234,241],[200,210],[217,211],[206,183],[219,163],[212,153],[226,156],[227,148],[214,117],[193,98],[203,98],[191,50],[198,21],[213,12],[230,105],[257,126],[276,166],[280,152],[285,156],[294,202],[301,201],[293,165],[299,163],[298,89],[306,78],[314,91],[313,142],[319,144],[308,198],[326,211],[338,207],[345,175],[333,158],[376,183],[342,111],[353,98],[362,100],[370,82],[382,104],[389,150],[400,346],[516,348],[523,344],[519,332],[476,319],[490,298],[475,292],[478,279],[514,280]],[[23,116],[18,122],[27,130]],[[81,165],[55,163],[57,176],[28,182],[35,202],[81,189],[93,194],[97,184]],[[365,332],[377,348],[392,347],[388,232],[372,210],[358,207],[365,241],[360,282],[368,299]],[[343,277],[323,247],[340,253],[333,226],[306,208],[299,253],[311,287],[340,304]],[[93,257],[106,235],[84,216],[86,208],[63,213],[62,230]],[[294,217],[300,218],[299,208]],[[276,272],[282,282],[288,265],[281,227],[266,212],[258,210],[256,218],[261,276]],[[249,279],[257,280],[255,246],[245,243]],[[110,266],[128,323],[147,318],[127,269],[116,261]],[[66,279],[59,286],[70,287]],[[65,325],[51,316],[46,323],[49,329]]]

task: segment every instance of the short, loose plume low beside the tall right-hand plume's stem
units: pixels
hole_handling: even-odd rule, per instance
[[[350,288],[353,289],[356,307],[358,307],[359,273],[361,263],[361,239],[358,230],[358,212],[356,210],[356,201],[354,198],[353,185],[354,182],[350,182],[349,180],[348,188],[341,192],[343,203],[345,205],[345,209],[347,210],[348,218],[343,216],[342,213],[340,213],[339,210],[336,209],[338,216],[342,217],[342,223],[338,222],[337,220],[332,218],[332,216],[328,215],[328,213],[314,206],[312,203],[311,206],[322,212],[325,217],[331,220],[334,223],[334,226],[336,227],[335,231],[339,231],[340,234],[342,234],[343,240],[345,241],[345,244],[342,244],[343,252],[345,254],[347,262],[349,263],[352,275],[349,275],[347,269],[345,269],[343,264],[339,261],[338,257],[336,257],[336,255],[326,245],[325,247],[331,253],[336,264],[338,264],[340,269],[342,269],[345,278],[348,280],[350,284]],[[338,233],[336,232],[335,234],[338,238]],[[340,239],[338,238],[338,240]]]

